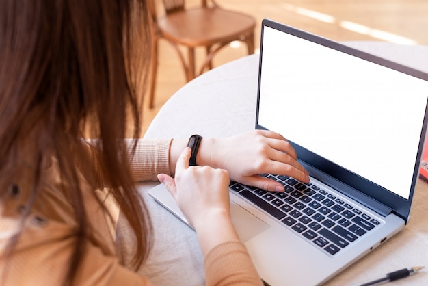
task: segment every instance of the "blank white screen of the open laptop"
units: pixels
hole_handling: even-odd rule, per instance
[[[258,124],[409,198],[428,82],[270,27],[264,33]]]

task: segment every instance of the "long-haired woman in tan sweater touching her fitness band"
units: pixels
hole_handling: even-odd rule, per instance
[[[230,222],[229,178],[270,191],[282,185],[258,174],[308,181],[289,143],[204,138],[189,166],[185,141],[124,140],[129,126],[139,137],[146,1],[0,0],[0,21],[0,284],[150,285],[135,272],[151,226],[134,183],[159,179],[196,229],[206,284],[260,285]],[[135,235],[131,261],[104,187]]]

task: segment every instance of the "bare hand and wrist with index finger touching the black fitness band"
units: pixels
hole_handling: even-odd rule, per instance
[[[201,248],[205,245],[205,250],[209,250],[219,243],[239,240],[230,220],[228,172],[209,166],[189,166],[190,156],[191,150],[186,147],[178,158],[175,179],[159,174],[159,181],[198,233]]]

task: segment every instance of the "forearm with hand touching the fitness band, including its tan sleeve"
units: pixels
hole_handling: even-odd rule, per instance
[[[215,272],[207,270],[207,279],[210,281],[217,279],[220,283],[217,277],[219,272],[224,273],[225,278],[222,278],[221,282],[225,285],[235,285],[234,282],[239,285],[262,285],[245,247],[237,248],[236,242],[239,241],[239,237],[230,219],[228,172],[209,166],[189,166],[190,155],[189,147],[180,154],[175,179],[166,174],[159,174],[158,179],[174,196],[187,221],[196,230],[202,255],[205,261],[210,261],[207,267],[215,269]],[[235,243],[228,244],[229,242]],[[220,246],[223,243],[226,244]],[[219,247],[217,250],[225,251],[226,247],[230,250],[230,245],[235,250],[241,250],[228,252],[222,259],[209,255],[217,246]],[[230,268],[236,261],[240,261],[239,264]]]

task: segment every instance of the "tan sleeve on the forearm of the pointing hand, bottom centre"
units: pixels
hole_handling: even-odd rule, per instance
[[[206,285],[263,285],[241,242],[224,242],[206,255]]]

